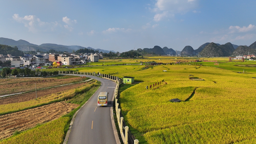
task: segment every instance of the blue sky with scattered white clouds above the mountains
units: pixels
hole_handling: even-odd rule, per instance
[[[125,52],[256,41],[255,0],[1,0],[0,37]]]

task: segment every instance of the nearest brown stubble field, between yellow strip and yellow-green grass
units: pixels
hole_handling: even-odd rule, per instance
[[[37,124],[58,119],[79,105],[64,101],[0,116],[0,140],[12,136],[15,131],[24,131]]]

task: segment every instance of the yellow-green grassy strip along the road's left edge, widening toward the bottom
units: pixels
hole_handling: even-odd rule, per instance
[[[16,135],[0,141],[0,144],[52,144],[62,143],[68,131],[69,124],[75,112],[92,96],[94,92],[100,87],[100,82],[95,81],[89,86],[76,89],[75,96],[67,102],[80,104],[79,107],[61,118],[52,122],[38,125],[35,128],[24,132],[16,132]]]

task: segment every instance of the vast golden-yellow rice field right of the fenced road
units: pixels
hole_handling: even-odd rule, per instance
[[[177,59],[104,60],[104,66],[76,69],[120,78],[134,76],[135,81],[142,82],[123,91],[119,98],[125,120],[140,133],[136,137],[141,139],[140,144],[256,143],[256,69],[244,66],[256,62],[207,58],[217,60],[219,68],[214,62],[201,62],[205,66],[159,65],[147,69],[143,69],[144,64],[139,65],[140,61],[168,63]],[[189,75],[201,80],[191,80]],[[146,86],[158,82],[161,86],[146,90]],[[174,98],[182,101],[169,101]]]

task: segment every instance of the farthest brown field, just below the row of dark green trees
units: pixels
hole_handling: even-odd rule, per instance
[[[15,79],[1,79],[0,80],[0,95],[27,92],[35,90],[36,88],[45,88],[62,84],[70,84],[74,82],[84,81],[85,78],[73,77],[73,78],[15,78]]]

